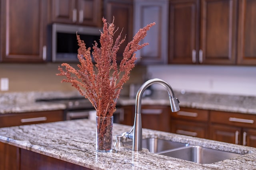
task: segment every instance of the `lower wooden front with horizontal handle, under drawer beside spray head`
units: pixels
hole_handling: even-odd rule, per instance
[[[174,120],[171,122],[171,132],[193,137],[208,138],[206,123]]]

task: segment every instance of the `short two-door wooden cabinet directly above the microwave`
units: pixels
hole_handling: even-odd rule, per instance
[[[52,0],[51,20],[88,26],[102,25],[101,0]]]

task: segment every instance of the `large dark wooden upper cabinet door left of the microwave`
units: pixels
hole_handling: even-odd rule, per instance
[[[42,62],[46,59],[46,0],[1,1],[0,61]]]

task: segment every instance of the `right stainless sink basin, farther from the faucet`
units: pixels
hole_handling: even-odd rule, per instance
[[[211,164],[221,160],[235,158],[242,154],[226,152],[222,150],[208,149],[199,146],[188,146],[174,150],[166,150],[158,154],[188,160],[200,164]]]

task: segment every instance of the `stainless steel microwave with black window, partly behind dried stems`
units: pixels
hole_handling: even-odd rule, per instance
[[[76,32],[80,35],[80,39],[84,40],[86,47],[91,47],[92,52],[94,41],[97,41],[100,47],[100,29],[99,27],[61,23],[49,25],[47,38],[48,47],[50,47],[47,51],[48,61],[78,62]]]

